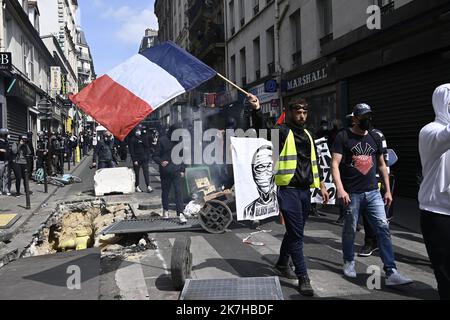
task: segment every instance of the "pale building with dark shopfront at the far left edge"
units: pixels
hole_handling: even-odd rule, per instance
[[[0,125],[11,137],[40,130],[38,106],[50,88],[53,56],[41,40],[36,1],[6,0],[0,9],[1,52],[11,66],[0,71]]]

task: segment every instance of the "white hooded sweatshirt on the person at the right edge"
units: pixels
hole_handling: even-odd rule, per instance
[[[450,84],[436,89],[433,107],[436,120],[419,136],[423,167],[420,209],[450,216]]]

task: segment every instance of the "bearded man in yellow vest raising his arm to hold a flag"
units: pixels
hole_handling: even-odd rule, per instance
[[[247,97],[253,109],[253,127],[271,129],[261,112],[259,99]],[[275,268],[287,278],[298,278],[298,289],[302,295],[313,296],[308,271],[303,255],[303,234],[311,207],[311,188],[320,188],[324,203],[329,195],[318,166],[317,147],[313,135],[305,128],[308,118],[308,104],[304,99],[292,101],[286,110],[286,123],[279,129],[281,150],[276,165],[275,182],[279,187],[278,202],[286,225],[286,234],[280,248],[280,257]],[[289,258],[295,267],[295,274],[289,265]]]

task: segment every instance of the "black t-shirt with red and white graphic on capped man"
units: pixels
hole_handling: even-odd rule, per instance
[[[342,154],[339,166],[342,184],[348,193],[363,193],[378,189],[377,159],[383,154],[382,145],[374,134],[360,136],[350,130],[341,131],[332,152]]]

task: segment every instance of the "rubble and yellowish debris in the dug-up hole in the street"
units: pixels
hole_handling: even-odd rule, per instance
[[[106,227],[133,218],[133,208],[125,203],[107,204],[104,200],[96,199],[60,204],[35,235],[23,256],[40,256],[92,247],[101,248],[105,254],[155,249],[154,243],[146,235],[127,238],[101,234]]]

